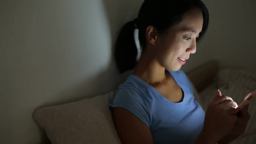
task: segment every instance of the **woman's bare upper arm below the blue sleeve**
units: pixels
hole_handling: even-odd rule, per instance
[[[154,144],[150,129],[125,108],[113,108],[115,129],[122,144]]]

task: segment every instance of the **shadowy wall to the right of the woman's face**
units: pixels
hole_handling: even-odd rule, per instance
[[[197,52],[184,66],[189,71],[210,59],[221,69],[256,69],[255,0],[203,0],[210,24]]]

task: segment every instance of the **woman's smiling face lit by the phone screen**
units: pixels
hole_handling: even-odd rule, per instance
[[[158,48],[157,59],[161,66],[171,71],[181,69],[190,54],[196,52],[196,38],[203,27],[201,10],[190,10],[177,26],[166,34],[158,35],[155,46]]]

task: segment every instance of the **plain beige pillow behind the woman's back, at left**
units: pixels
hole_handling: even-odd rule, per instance
[[[114,91],[37,109],[33,117],[52,144],[121,144],[109,104]]]

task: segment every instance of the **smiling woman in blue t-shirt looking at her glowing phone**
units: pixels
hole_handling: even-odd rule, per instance
[[[218,91],[204,113],[180,70],[208,22],[200,0],[144,0],[138,17],[123,26],[118,69],[135,69],[110,105],[123,144],[225,144],[243,134],[248,106],[238,118],[236,102]]]

